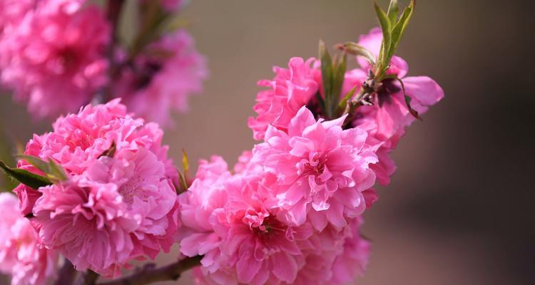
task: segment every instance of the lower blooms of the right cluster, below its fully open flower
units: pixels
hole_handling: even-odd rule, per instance
[[[277,177],[253,168],[231,174],[221,157],[201,161],[179,195],[180,252],[203,255],[197,284],[343,284],[362,273],[369,244],[360,217],[345,217],[343,229],[288,222],[272,189]]]

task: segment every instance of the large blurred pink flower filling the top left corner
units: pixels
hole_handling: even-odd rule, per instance
[[[76,110],[106,82],[103,51],[110,29],[100,9],[82,4],[44,0],[32,9],[9,6],[17,15],[27,12],[0,38],[1,80],[37,118]]]

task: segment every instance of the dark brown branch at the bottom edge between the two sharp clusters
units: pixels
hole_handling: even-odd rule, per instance
[[[130,276],[103,282],[98,285],[144,285],[158,281],[177,280],[184,271],[198,266],[202,258],[201,256],[188,257],[160,268],[155,268],[154,264],[147,264],[141,271]]]

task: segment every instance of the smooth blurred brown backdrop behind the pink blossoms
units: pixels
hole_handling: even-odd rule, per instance
[[[534,7],[417,2],[398,54],[446,98],[394,153],[399,170],[365,214],[373,253],[357,283],[535,284]],[[292,56],[316,56],[320,38],[356,41],[377,25],[371,0],[194,0],[183,17],[211,76],[165,142],[176,160],[185,148],[190,160],[219,154],[230,164],[254,143],[246,121],[256,81]],[[0,96],[2,160],[13,163],[16,142],[50,128]]]

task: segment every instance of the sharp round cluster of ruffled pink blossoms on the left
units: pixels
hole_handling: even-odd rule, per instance
[[[34,135],[24,154],[54,160],[67,175],[37,190],[15,190],[39,243],[76,269],[105,276],[118,276],[132,259],[168,252],[180,224],[175,170],[162,136],[118,99],[87,105],[58,118],[51,133]],[[42,174],[26,160],[18,166]]]

